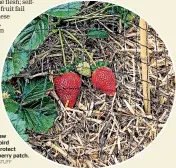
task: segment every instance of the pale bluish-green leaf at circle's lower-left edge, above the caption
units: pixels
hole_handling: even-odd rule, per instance
[[[21,119],[19,114],[9,113],[9,112],[7,114],[8,114],[8,117],[9,117],[13,127],[17,131],[17,133],[20,135],[20,137],[24,141],[27,141],[28,138],[29,138],[29,135],[25,133],[25,131],[26,131],[26,123],[25,123],[25,121],[23,121]]]

